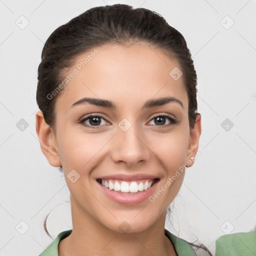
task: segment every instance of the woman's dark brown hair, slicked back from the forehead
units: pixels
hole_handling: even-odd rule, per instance
[[[50,34],[42,49],[36,91],[36,101],[45,122],[54,128],[54,104],[60,93],[50,98],[47,95],[61,83],[64,71],[72,66],[75,57],[106,43],[127,45],[135,42],[160,48],[167,56],[178,60],[188,96],[189,127],[193,128],[197,114],[197,76],[184,37],[157,12],[133,9],[126,4],[90,8]],[[49,234],[46,218],[44,229]]]

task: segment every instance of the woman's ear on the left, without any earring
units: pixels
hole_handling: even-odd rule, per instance
[[[41,150],[49,164],[54,167],[61,166],[55,135],[52,128],[45,122],[41,110],[35,115],[35,128]]]

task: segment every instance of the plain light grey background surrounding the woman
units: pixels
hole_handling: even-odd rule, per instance
[[[175,230],[166,227],[189,241],[198,237],[214,253],[220,235],[256,224],[255,0],[0,0],[0,255],[38,255],[52,241],[43,230],[52,209],[53,237],[72,228],[64,177],[48,164],[35,131],[37,67],[56,27],[114,3],[160,13],[185,37],[198,76],[201,156],[174,199]],[[24,29],[15,23],[25,24],[21,15],[29,21]],[[234,124],[228,130],[226,118]]]

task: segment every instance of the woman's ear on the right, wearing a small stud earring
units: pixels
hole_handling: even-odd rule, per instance
[[[199,137],[201,135],[201,115],[199,113],[195,116],[195,123],[193,129],[190,130],[189,145],[187,150],[185,166],[191,167],[194,164],[194,157],[198,150]],[[193,157],[191,159],[190,157]]]

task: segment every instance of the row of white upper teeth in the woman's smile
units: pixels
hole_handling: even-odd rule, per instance
[[[101,185],[109,188],[110,190],[121,191],[121,192],[132,192],[136,193],[138,191],[147,190],[152,186],[153,181],[140,181],[137,183],[136,181],[131,181],[130,184],[126,181],[122,181],[119,183],[117,180],[101,180]]]

